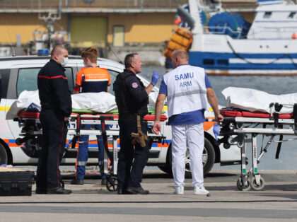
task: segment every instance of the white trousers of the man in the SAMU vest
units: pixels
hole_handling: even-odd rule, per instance
[[[175,187],[185,185],[185,158],[190,151],[192,185],[203,187],[202,153],[204,150],[203,124],[173,125],[172,157]]]

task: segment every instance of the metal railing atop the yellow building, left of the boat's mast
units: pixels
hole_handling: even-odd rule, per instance
[[[0,0],[0,10],[176,9],[177,6],[187,4],[187,2],[187,0]]]

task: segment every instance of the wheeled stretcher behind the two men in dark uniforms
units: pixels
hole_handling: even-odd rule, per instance
[[[19,122],[22,127],[20,136],[23,138],[16,139],[16,144],[21,145],[25,143],[25,147],[22,147],[24,151],[31,152],[31,156],[37,158],[38,151],[41,149],[42,142],[42,128],[39,119],[39,112],[25,112],[18,113],[18,118],[15,121]],[[161,122],[165,124],[167,117],[161,115]],[[153,121],[155,115],[144,116],[144,121],[148,124],[148,146],[153,143],[161,143],[165,137],[163,135],[156,135],[152,131]],[[101,130],[91,127],[91,129],[83,129],[81,127],[84,124],[91,124],[92,126],[100,124]],[[110,127],[107,127],[110,126]],[[118,127],[118,115],[112,114],[83,114],[83,113],[71,113],[69,119],[68,135],[72,137],[68,146],[65,149],[64,156],[71,148],[76,148],[78,137],[83,135],[102,135],[104,144],[103,155],[103,172],[107,175],[106,187],[110,191],[117,189],[117,152],[118,152],[118,139],[120,137],[120,131]],[[112,140],[112,150],[108,147],[108,141]]]

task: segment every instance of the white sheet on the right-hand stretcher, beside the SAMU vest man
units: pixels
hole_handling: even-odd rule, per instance
[[[273,95],[252,88],[228,87],[222,91],[228,107],[238,107],[251,112],[270,112],[270,103],[297,103],[297,93]],[[280,113],[292,113],[293,106],[284,106]]]

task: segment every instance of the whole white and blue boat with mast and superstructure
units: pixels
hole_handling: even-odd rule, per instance
[[[272,0],[257,4],[255,20],[242,38],[240,28],[203,25],[206,6],[189,0],[194,20],[190,64],[204,67],[209,75],[297,75],[297,5]]]

